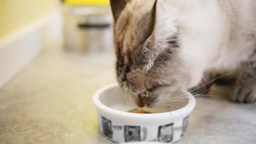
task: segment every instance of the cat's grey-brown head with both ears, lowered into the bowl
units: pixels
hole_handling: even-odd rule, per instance
[[[162,0],[110,0],[115,20],[117,80],[140,107],[170,99],[200,76],[181,56],[179,24]],[[192,80],[195,79],[195,80]]]

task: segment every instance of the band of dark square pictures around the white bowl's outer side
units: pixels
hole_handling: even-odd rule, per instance
[[[138,141],[156,141],[162,143],[173,143],[174,131],[180,131],[179,137],[183,137],[187,132],[189,116],[184,117],[182,125],[174,127],[174,123],[166,125],[121,125],[120,122],[101,116],[101,125],[99,131],[110,141],[138,142]],[[181,123],[178,121],[177,123]],[[118,128],[117,128],[118,127]],[[152,134],[153,132],[153,134]],[[147,136],[148,133],[150,136]],[[152,137],[154,136],[154,137]],[[142,139],[144,137],[144,139]]]

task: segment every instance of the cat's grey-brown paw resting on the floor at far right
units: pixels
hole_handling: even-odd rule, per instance
[[[237,103],[251,103],[256,101],[256,87],[254,86],[235,86],[231,95],[232,101]]]

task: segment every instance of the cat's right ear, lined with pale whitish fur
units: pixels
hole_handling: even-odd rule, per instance
[[[142,65],[145,70],[153,66],[157,56],[171,46],[177,35],[175,22],[166,11],[162,0],[155,1],[150,22],[153,24],[152,33],[142,48],[142,53],[144,53]]]

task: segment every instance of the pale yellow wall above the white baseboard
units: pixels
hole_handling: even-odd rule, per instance
[[[58,8],[59,0],[0,0],[0,38]]]

